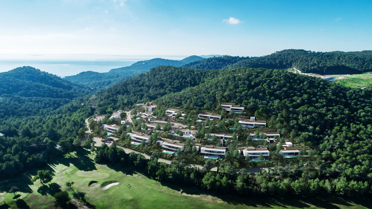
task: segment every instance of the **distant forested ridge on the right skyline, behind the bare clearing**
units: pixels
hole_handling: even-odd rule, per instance
[[[194,69],[297,68],[305,73],[356,74],[372,71],[372,51],[312,52],[283,50],[261,57],[212,57],[184,65]]]

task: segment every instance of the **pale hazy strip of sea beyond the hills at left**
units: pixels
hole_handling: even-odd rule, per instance
[[[181,60],[187,56],[169,55],[99,55],[99,54],[10,54],[0,55],[0,72],[7,72],[14,68],[31,66],[33,68],[58,75],[60,77],[76,75],[84,71],[99,73],[109,72],[111,69],[127,67],[137,61],[153,58]]]

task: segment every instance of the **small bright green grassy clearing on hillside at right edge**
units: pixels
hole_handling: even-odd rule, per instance
[[[334,75],[338,77],[340,75]],[[351,87],[351,88],[361,88],[372,85],[372,74],[355,74],[352,76],[341,75],[345,79],[340,79],[337,82],[342,86]]]

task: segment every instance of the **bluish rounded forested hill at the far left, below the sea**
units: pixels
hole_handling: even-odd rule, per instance
[[[32,67],[0,73],[0,118],[43,115],[92,90]]]

